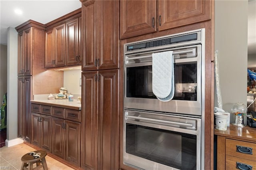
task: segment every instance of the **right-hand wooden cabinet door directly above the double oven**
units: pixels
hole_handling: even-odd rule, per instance
[[[158,30],[210,19],[210,0],[158,0]]]

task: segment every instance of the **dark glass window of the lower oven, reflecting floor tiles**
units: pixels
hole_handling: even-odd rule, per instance
[[[182,170],[196,170],[196,135],[126,123],[126,152]]]

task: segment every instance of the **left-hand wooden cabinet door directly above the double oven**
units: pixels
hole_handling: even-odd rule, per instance
[[[156,32],[156,0],[120,0],[120,39]]]

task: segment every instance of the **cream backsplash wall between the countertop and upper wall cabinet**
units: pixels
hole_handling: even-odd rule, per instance
[[[80,78],[81,69],[64,71],[63,85],[68,93],[81,95]]]

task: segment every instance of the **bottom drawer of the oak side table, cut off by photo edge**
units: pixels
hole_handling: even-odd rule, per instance
[[[237,165],[240,166],[240,168],[236,168]],[[238,157],[228,156],[228,155],[226,156],[226,170],[236,170],[236,169],[254,170],[255,168],[256,168],[256,162],[252,160],[246,160],[243,158],[238,158]]]

